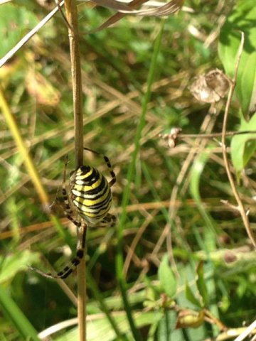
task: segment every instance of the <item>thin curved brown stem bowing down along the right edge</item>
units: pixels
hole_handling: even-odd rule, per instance
[[[245,229],[247,231],[248,236],[250,237],[250,240],[251,240],[253,246],[256,247],[256,240],[255,240],[255,237],[252,233],[252,229],[250,227],[250,222],[249,222],[248,216],[246,214],[245,207],[242,203],[242,200],[240,199],[240,195],[239,195],[238,190],[235,186],[235,181],[233,179],[233,175],[232,175],[231,170],[230,170],[230,163],[228,161],[228,155],[227,155],[226,146],[225,146],[225,136],[226,136],[226,131],[227,131],[227,123],[228,123],[228,112],[230,109],[230,103],[231,103],[231,99],[233,96],[233,92],[235,90],[235,82],[236,82],[236,79],[238,77],[238,66],[240,63],[240,58],[242,55],[242,48],[243,48],[243,44],[244,44],[244,40],[245,40],[245,36],[244,36],[243,32],[241,32],[241,35],[242,36],[241,36],[240,47],[238,50],[238,59],[237,59],[236,64],[235,64],[235,74],[233,77],[233,82],[230,85],[230,90],[228,92],[228,100],[227,100],[227,104],[225,106],[225,113],[224,113],[224,118],[223,118],[223,129],[222,129],[222,136],[221,136],[221,145],[222,145],[222,149],[223,149],[223,160],[225,163],[225,169],[226,169],[226,172],[228,174],[228,180],[230,182],[230,186],[232,188],[235,200],[238,202],[238,209],[239,209],[240,215],[242,217],[242,222],[245,225]]]

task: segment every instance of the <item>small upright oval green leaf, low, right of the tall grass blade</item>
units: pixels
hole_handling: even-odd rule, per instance
[[[159,281],[164,292],[170,298],[174,298],[177,290],[177,281],[174,276],[171,267],[169,266],[169,260],[167,254],[165,254],[161,260],[158,271]]]

